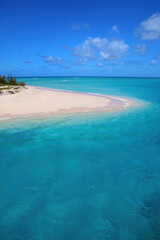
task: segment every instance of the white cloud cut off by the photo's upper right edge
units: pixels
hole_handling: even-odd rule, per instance
[[[160,13],[155,13],[147,20],[141,22],[136,34],[143,40],[160,39]]]

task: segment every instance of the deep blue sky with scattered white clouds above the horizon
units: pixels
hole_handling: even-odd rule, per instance
[[[159,0],[1,0],[0,73],[160,77]]]

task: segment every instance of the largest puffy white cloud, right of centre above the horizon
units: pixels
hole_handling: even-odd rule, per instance
[[[71,49],[72,56],[75,57],[73,64],[85,64],[88,61],[118,60],[126,55],[129,46],[123,40],[109,41],[107,38],[88,37],[82,44]]]

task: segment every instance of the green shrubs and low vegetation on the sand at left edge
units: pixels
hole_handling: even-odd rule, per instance
[[[0,95],[15,94],[25,88],[25,82],[18,83],[17,80],[9,75],[0,75]]]

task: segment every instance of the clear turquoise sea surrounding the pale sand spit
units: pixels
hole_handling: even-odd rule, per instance
[[[19,80],[147,104],[1,122],[0,239],[160,239],[160,79]]]

